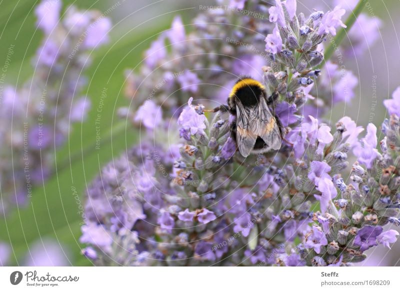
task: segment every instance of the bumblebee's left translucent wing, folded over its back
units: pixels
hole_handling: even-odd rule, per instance
[[[244,108],[240,101],[236,101],[236,143],[244,157],[250,154],[257,139],[257,135],[250,128],[252,111],[253,109]]]

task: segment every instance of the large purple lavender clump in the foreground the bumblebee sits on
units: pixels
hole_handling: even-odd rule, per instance
[[[83,254],[96,265],[339,266],[394,242],[398,232],[382,225],[400,224],[400,89],[385,101],[382,153],[373,124],[359,139],[363,128],[347,116],[332,128],[305,115],[321,72],[318,45],[345,26],[343,14],[335,7],[305,17],[295,0],[269,8],[275,27],[265,38],[262,80],[277,94],[271,110],[286,131],[278,151],[244,158],[231,137],[234,116],[208,116],[192,97],[170,119],[146,100],[132,116],[145,128],[141,143],[87,190]]]

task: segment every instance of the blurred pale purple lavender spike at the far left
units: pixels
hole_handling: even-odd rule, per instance
[[[71,122],[82,122],[90,100],[81,95],[89,54],[107,42],[111,22],[97,11],[43,0],[35,9],[44,33],[32,59],[34,72],[18,88],[5,87],[0,99],[0,212],[22,205],[32,187],[53,166],[52,149],[66,139]]]

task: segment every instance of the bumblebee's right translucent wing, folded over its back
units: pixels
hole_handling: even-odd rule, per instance
[[[265,98],[261,97],[255,110],[249,116],[250,131],[257,137],[264,140],[266,146],[263,152],[274,149],[277,150],[282,144],[282,135],[275,117],[269,110]]]

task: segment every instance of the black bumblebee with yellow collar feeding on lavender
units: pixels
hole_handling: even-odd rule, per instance
[[[228,111],[236,116],[231,124],[231,135],[242,156],[280,148],[285,129],[268,107],[278,96],[273,93],[267,97],[259,81],[243,76],[232,87],[227,105],[213,110]]]

